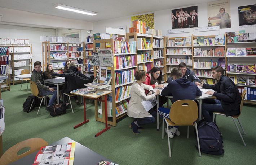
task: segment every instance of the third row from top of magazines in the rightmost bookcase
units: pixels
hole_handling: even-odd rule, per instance
[[[228,64],[227,71],[238,73],[256,73],[256,64],[254,65],[240,65],[240,64]]]

